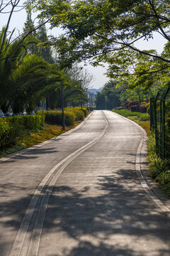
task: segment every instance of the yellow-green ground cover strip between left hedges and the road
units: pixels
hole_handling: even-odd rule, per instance
[[[18,138],[16,145],[11,146],[9,149],[5,149],[4,151],[0,151],[0,157],[6,156],[8,154],[12,154],[16,151],[20,151],[22,149],[26,149],[29,146],[34,146],[41,142],[45,142],[47,139],[52,139],[53,137],[59,136],[64,132],[77,127],[79,122],[75,122],[74,125],[65,127],[65,130],[62,129],[60,125],[50,125],[46,124],[43,129],[33,132],[28,132],[25,134],[23,138]]]

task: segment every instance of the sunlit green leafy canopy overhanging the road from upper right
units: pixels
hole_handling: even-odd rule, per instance
[[[37,0],[35,6],[41,16],[51,18],[52,28],[64,29],[62,36],[51,38],[60,56],[72,61],[92,58],[94,65],[106,62],[110,78],[133,74],[135,81],[148,80],[146,87],[156,80],[156,73],[169,73],[169,0]],[[166,40],[161,54],[136,47],[137,41],[149,40],[154,33]]]

